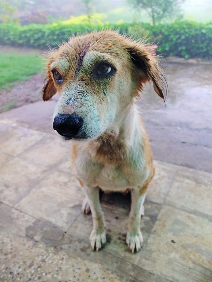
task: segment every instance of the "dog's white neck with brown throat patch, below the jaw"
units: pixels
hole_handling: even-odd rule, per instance
[[[143,132],[137,106],[132,103],[124,111],[120,109],[120,113],[102,135],[87,143],[86,151],[98,162],[119,165],[129,152],[140,147]]]

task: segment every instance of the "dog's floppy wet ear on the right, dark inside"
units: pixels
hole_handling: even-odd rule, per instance
[[[140,89],[142,90],[142,83],[152,81],[155,92],[165,100],[167,84],[161,70],[155,50],[143,43],[135,41],[128,41],[126,47],[130,54],[133,66],[136,68],[136,73],[139,75]]]

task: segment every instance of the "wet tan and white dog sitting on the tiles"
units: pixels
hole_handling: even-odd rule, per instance
[[[59,93],[53,128],[72,140],[73,172],[85,194],[82,211],[92,213],[90,244],[97,251],[106,243],[99,188],[130,189],[126,243],[132,253],[143,244],[140,218],[155,168],[135,99],[148,81],[165,99],[165,78],[153,50],[117,31],[69,38],[48,54],[43,100]]]

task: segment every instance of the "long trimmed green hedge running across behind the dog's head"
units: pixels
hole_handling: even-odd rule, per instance
[[[138,38],[147,36],[149,42],[158,44],[159,54],[162,56],[212,58],[212,22],[203,24],[182,21],[157,26],[146,23],[97,26],[62,23],[27,26],[0,24],[0,44],[33,48],[56,47],[73,34],[104,28],[118,29],[121,34],[133,34]]]

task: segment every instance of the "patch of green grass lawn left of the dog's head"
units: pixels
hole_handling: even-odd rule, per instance
[[[0,90],[9,90],[20,81],[26,81],[42,70],[38,53],[0,50]]]

